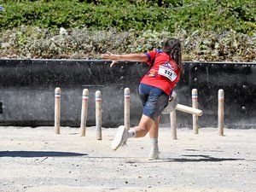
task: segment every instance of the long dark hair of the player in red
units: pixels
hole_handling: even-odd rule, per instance
[[[182,62],[182,50],[180,40],[177,38],[170,38],[166,40],[163,51],[170,56],[170,58],[176,62],[179,72],[183,73],[183,62]]]

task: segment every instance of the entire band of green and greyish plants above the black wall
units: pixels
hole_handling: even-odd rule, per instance
[[[160,49],[175,37],[182,40],[183,61],[256,61],[251,0],[0,0],[0,5],[5,9],[0,57],[95,59],[107,50]]]

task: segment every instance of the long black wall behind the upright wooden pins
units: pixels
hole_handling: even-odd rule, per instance
[[[102,125],[124,123],[124,89],[131,89],[131,125],[137,125],[142,105],[137,84],[148,67],[106,61],[0,60],[0,125],[54,125],[54,90],[61,87],[61,125],[79,126],[83,89],[90,91],[87,125],[95,125],[95,92],[102,91]],[[225,94],[225,126],[256,127],[256,63],[185,62],[177,84],[181,104],[191,106],[198,89],[201,127],[218,125],[218,89]],[[162,125],[169,125],[163,114]],[[179,127],[191,126],[189,114],[177,112]]]

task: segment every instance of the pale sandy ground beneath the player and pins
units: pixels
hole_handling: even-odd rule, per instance
[[[110,148],[115,129],[0,127],[0,191],[256,191],[256,129],[160,128],[160,160],[148,137]]]

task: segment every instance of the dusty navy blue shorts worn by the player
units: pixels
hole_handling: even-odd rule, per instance
[[[148,84],[139,84],[138,95],[143,102],[143,114],[155,120],[168,105],[169,96],[164,90]]]

